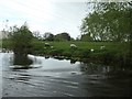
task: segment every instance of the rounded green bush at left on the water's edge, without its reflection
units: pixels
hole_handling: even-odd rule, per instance
[[[12,31],[10,32],[10,40],[14,54],[28,55],[31,53],[32,38],[32,32],[29,30],[26,24],[22,25],[21,28],[13,26]]]

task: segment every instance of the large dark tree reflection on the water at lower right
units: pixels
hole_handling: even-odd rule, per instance
[[[95,96],[131,96],[132,72],[130,68],[92,63],[79,65],[82,74],[88,77],[84,88]]]

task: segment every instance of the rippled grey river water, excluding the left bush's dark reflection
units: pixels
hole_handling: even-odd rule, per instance
[[[131,70],[29,55],[30,69],[12,69],[13,54],[0,53],[2,97],[128,97]],[[2,68],[1,68],[2,67]]]

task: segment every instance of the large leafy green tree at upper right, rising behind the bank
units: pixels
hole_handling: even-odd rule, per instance
[[[96,2],[84,20],[81,32],[94,41],[129,41],[130,6],[128,2]]]

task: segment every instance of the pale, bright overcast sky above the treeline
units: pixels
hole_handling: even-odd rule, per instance
[[[67,32],[76,38],[87,10],[86,2],[77,0],[0,0],[0,30],[26,22],[32,32]]]

